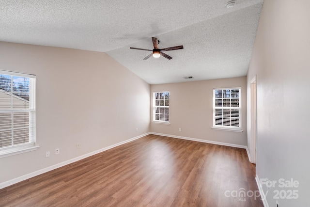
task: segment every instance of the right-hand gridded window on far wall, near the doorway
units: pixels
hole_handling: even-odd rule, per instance
[[[213,89],[213,127],[241,130],[241,88]]]

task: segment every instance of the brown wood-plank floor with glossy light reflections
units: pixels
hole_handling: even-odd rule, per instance
[[[258,191],[245,149],[147,135],[1,189],[0,207],[263,207],[225,196],[242,188]]]

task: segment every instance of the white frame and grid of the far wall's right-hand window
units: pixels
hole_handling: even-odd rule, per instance
[[[215,97],[215,92],[217,90],[239,90],[239,106],[238,107],[232,107],[232,104],[230,102],[230,106],[229,107],[224,107],[224,106],[216,106],[216,97]],[[223,97],[222,97],[223,98]],[[231,99],[227,98],[227,99]],[[224,98],[223,98],[224,99]],[[223,126],[223,125],[216,125],[216,109],[238,109],[239,113],[238,113],[238,118],[239,118],[239,126],[238,127],[234,127],[234,126]],[[242,132],[242,89],[241,87],[228,87],[228,88],[214,88],[213,89],[213,126],[212,129],[217,129],[217,130],[228,130],[228,131],[238,131],[238,132]],[[224,116],[222,116],[224,117]],[[229,116],[230,118],[232,118],[232,116]],[[232,124],[230,124],[232,125]]]

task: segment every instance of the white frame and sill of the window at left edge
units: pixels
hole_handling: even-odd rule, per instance
[[[30,87],[30,96],[29,96],[29,108],[27,109],[14,109],[12,108],[12,104],[13,104],[13,96],[16,95],[12,95],[12,88],[10,91],[10,96],[11,96],[11,108],[10,109],[0,109],[0,112],[4,113],[4,112],[29,112],[29,142],[27,143],[20,143],[20,144],[16,144],[16,145],[11,145],[11,146],[6,146],[3,148],[0,148],[0,158],[4,158],[4,157],[8,157],[8,156],[12,156],[12,155],[16,155],[16,154],[20,154],[20,153],[24,153],[24,152],[30,152],[33,150],[36,150],[39,146],[36,145],[36,136],[35,136],[35,81],[36,81],[36,76],[35,75],[31,75],[31,74],[25,74],[25,73],[17,73],[17,72],[11,72],[11,71],[5,71],[5,70],[0,70],[0,74],[3,75],[8,75],[8,76],[17,76],[17,77],[22,77],[22,78],[29,78],[30,82],[29,82],[29,87]],[[12,78],[11,77],[11,78]],[[12,120],[13,123],[13,120]],[[12,127],[12,125],[11,125]]]

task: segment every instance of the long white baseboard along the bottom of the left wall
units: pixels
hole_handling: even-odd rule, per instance
[[[137,137],[134,137],[134,138],[131,138],[131,139],[128,139],[128,140],[125,140],[123,142],[120,142],[120,143],[116,143],[116,144],[113,144],[113,145],[110,145],[110,146],[107,146],[107,147],[104,147],[102,149],[98,149],[96,151],[93,151],[93,152],[90,152],[90,153],[87,153],[85,155],[82,155],[82,156],[79,156],[77,158],[73,158],[73,159],[69,159],[69,160],[66,160],[64,162],[61,162],[61,163],[58,163],[58,164],[55,164],[55,165],[52,165],[52,166],[49,166],[47,168],[44,168],[44,169],[41,169],[41,170],[38,170],[38,171],[35,171],[35,172],[32,172],[32,173],[29,173],[27,175],[22,175],[20,177],[16,177],[14,179],[11,179],[11,180],[8,180],[8,181],[5,181],[5,182],[2,182],[0,183],[0,189],[2,188],[5,188],[5,187],[8,187],[10,185],[13,185],[13,184],[16,184],[18,182],[21,182],[21,181],[24,181],[24,180],[27,180],[27,179],[30,179],[31,177],[34,177],[34,176],[37,176],[37,175],[41,175],[41,174],[44,174],[44,173],[47,173],[48,171],[51,171],[51,170],[55,170],[57,168],[60,168],[62,166],[65,166],[67,164],[71,164],[73,162],[76,162],[78,160],[81,160],[81,159],[84,159],[84,158],[88,158],[90,156],[93,156],[95,154],[98,154],[100,152],[104,152],[108,149],[111,149],[111,148],[114,148],[116,146],[119,146],[119,145],[122,145],[124,143],[129,143],[131,141],[134,141],[134,140],[137,140],[141,137],[144,137],[146,135],[149,135],[150,133],[145,133],[145,134],[142,134],[142,135],[139,135]]]

